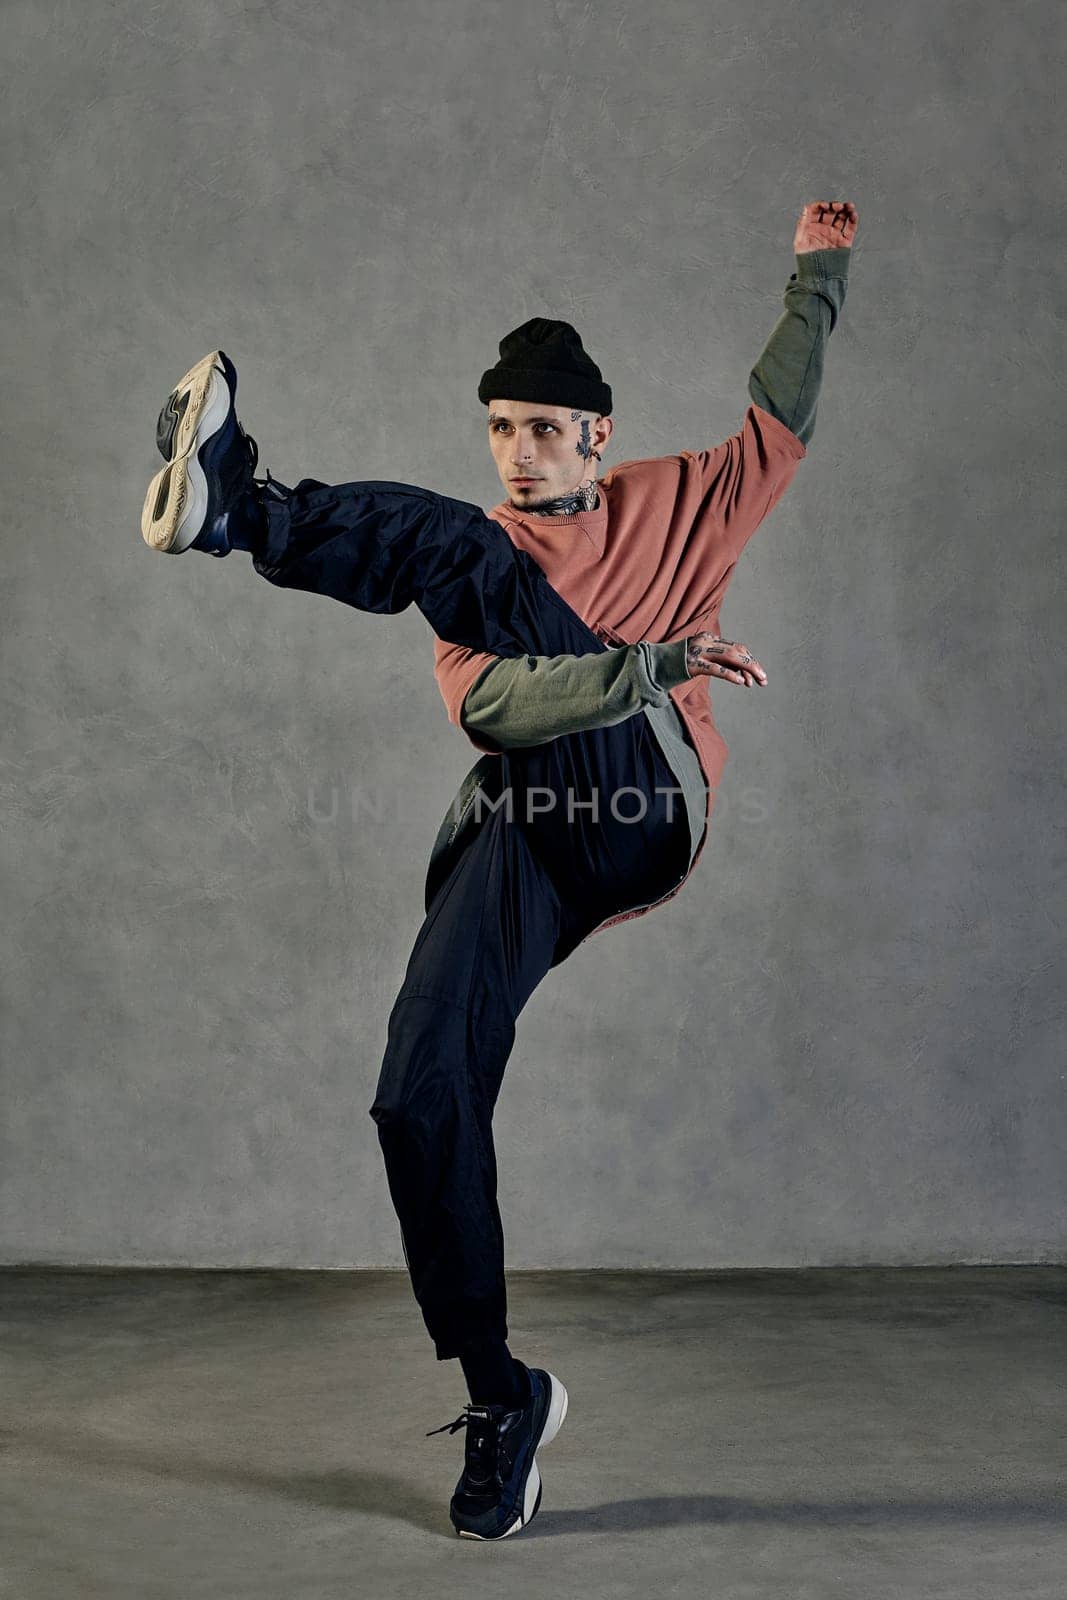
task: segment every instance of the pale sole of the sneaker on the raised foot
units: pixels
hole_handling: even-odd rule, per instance
[[[190,366],[160,411],[157,443],[160,450],[165,445],[171,450],[171,459],[149,483],[141,510],[141,534],[154,550],[181,555],[203,530],[208,478],[200,451],[219,432],[234,405],[232,371],[227,357],[213,350]]]

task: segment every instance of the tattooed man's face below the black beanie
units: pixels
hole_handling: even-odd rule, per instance
[[[507,498],[523,510],[536,510],[597,477],[598,462],[590,451],[603,450],[613,422],[571,406],[490,400],[486,426]]]

